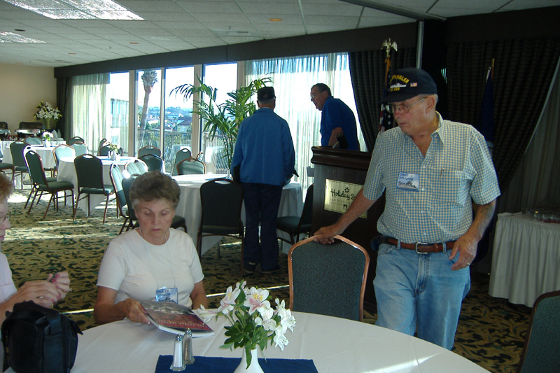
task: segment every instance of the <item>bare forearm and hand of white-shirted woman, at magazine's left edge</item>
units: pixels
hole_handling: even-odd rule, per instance
[[[97,300],[93,307],[93,317],[101,325],[128,318],[134,323],[148,324],[146,310],[140,302],[132,298],[115,303],[117,290],[97,286]]]

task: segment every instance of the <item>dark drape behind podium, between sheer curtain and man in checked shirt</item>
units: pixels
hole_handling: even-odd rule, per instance
[[[367,150],[372,150],[379,131],[380,106],[385,81],[384,50],[367,50],[349,52],[350,77],[356,109],[360,119],[363,138]],[[416,50],[414,48],[399,49],[391,53],[391,72],[404,67],[414,66]]]

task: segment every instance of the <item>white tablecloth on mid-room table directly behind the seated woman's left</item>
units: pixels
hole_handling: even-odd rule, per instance
[[[99,157],[103,164],[103,182],[105,185],[111,185],[111,178],[109,176],[109,168],[114,162],[118,165],[121,170],[125,169],[125,164],[130,160],[136,159],[135,157],[120,157],[119,160],[113,161],[108,157]],[[58,164],[58,174],[57,181],[69,181],[74,185],[74,195],[78,196],[78,176],[76,176],[76,167],[74,167],[74,157],[63,157],[60,158]],[[105,197],[102,195],[91,195],[90,196],[90,209],[94,209],[95,206],[105,201]],[[78,204],[78,207],[85,213],[87,213],[87,198],[84,198]]]

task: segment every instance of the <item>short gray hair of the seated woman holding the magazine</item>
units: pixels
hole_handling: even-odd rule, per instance
[[[166,199],[173,209],[177,208],[181,189],[171,176],[160,171],[149,171],[138,176],[130,186],[132,209],[136,210],[140,202],[152,202],[155,199]]]

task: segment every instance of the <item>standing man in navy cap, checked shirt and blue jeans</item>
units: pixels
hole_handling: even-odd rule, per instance
[[[385,192],[382,236],[372,242],[376,325],[451,349],[469,265],[500,195],[496,171],[482,134],[435,111],[437,87],[426,71],[396,71],[383,102],[398,127],[379,136],[363,189],[317,241],[332,242]]]

